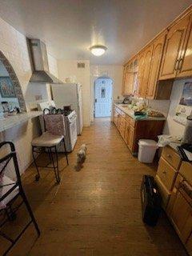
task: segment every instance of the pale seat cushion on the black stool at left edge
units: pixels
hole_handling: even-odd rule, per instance
[[[11,184],[11,185],[9,185]],[[9,191],[13,186],[14,186],[15,182],[10,179],[9,177],[7,177],[6,175],[4,175],[2,177],[2,181],[1,181],[1,185],[0,185],[0,198],[2,198],[2,196],[4,194],[6,194],[7,191]],[[5,186],[7,185],[7,186]],[[2,186],[2,187],[1,187]],[[18,186],[15,187],[15,189],[6,196],[6,198],[4,198],[1,202],[0,202],[0,210],[3,208],[6,208],[6,204],[8,202],[10,202],[10,200],[12,200],[17,194],[18,194]]]

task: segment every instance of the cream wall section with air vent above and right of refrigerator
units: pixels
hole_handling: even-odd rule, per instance
[[[85,63],[85,68],[78,68],[78,62]],[[73,76],[82,84],[83,126],[90,126],[90,62],[58,60],[58,78],[66,82],[66,78]]]

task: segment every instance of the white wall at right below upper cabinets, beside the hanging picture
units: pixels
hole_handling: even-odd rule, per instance
[[[174,121],[175,109],[178,106],[180,98],[182,96],[182,90],[185,82],[192,82],[192,79],[182,79],[174,82],[173,89],[170,95],[170,110],[166,120],[166,126],[163,134],[171,134],[176,136],[182,136],[185,126]],[[192,110],[192,106],[191,106]]]

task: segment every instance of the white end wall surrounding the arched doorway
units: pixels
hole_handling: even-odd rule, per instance
[[[90,66],[90,88],[91,88],[91,121],[94,120],[94,81],[98,76],[107,75],[114,81],[113,99],[122,99],[122,72],[120,65],[91,65]]]

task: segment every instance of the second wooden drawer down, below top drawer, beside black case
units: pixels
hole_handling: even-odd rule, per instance
[[[176,178],[177,171],[163,158],[160,158],[158,162],[157,175],[161,179],[167,190],[171,190],[174,179]]]

